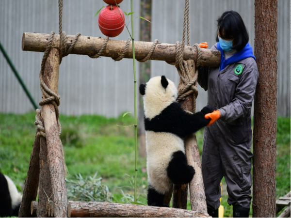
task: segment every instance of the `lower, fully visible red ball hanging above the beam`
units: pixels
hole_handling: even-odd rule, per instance
[[[124,22],[123,11],[114,5],[102,8],[98,17],[100,31],[109,37],[118,36],[124,29]]]

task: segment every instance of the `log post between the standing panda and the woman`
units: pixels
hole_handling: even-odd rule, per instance
[[[194,78],[195,74],[195,63],[193,60],[186,61],[189,66],[189,73],[192,78]],[[184,88],[187,84],[184,84],[184,82],[180,79],[178,84],[178,89]],[[197,83],[195,84],[197,87]],[[184,110],[191,111],[195,113],[195,95],[189,95],[187,96],[182,102],[182,108]],[[190,187],[190,202],[191,202],[191,209],[193,211],[199,211],[201,213],[207,214],[207,205],[206,205],[206,197],[204,192],[204,183],[203,183],[203,177],[202,177],[202,168],[201,168],[201,159],[200,154],[198,150],[197,140],[195,134],[187,137],[184,140],[185,143],[185,152],[187,156],[188,164],[194,167],[195,174],[192,179],[192,181],[189,184]],[[184,192],[181,195],[186,195],[187,197],[187,189],[180,189],[177,190],[179,192]],[[173,200],[174,204],[174,200]],[[187,201],[186,201],[187,206]]]

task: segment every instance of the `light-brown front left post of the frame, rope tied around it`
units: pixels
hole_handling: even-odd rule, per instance
[[[59,80],[59,51],[52,48],[45,64],[44,82],[54,93],[58,92]],[[46,131],[49,176],[51,181],[51,201],[54,202],[54,216],[56,218],[67,217],[67,192],[65,186],[65,172],[63,163],[62,142],[59,137],[59,129],[55,108],[52,104],[42,107],[42,118]],[[49,196],[50,197],[50,196]]]

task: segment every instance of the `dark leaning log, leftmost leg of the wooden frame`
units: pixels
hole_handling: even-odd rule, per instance
[[[39,183],[39,139],[40,137],[35,136],[29,169],[23,188],[22,201],[18,216],[19,218],[31,217],[30,204],[32,201],[36,200]]]

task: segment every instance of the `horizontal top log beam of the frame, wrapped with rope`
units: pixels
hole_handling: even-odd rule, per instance
[[[66,47],[68,48],[74,40],[74,35],[67,35]],[[80,36],[71,54],[94,55],[101,49],[105,38]],[[49,42],[49,34],[24,32],[22,36],[22,50],[44,52]],[[126,41],[108,40],[107,47],[101,56],[117,58],[124,50]],[[60,35],[55,34],[53,38],[53,47],[59,48]],[[135,58],[143,59],[146,57],[152,47],[152,42],[134,42]],[[218,67],[220,63],[220,52],[218,50],[210,50],[201,48],[201,65]],[[132,58],[132,46],[129,45],[128,52],[124,58]],[[175,62],[176,45],[158,43],[153,51],[150,60]],[[185,46],[184,60],[197,60],[196,49],[191,46]]]

